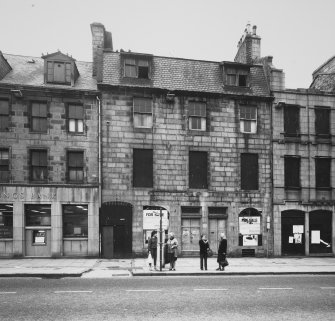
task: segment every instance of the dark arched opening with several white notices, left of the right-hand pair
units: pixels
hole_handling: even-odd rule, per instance
[[[282,212],[281,236],[282,255],[305,255],[305,212]]]

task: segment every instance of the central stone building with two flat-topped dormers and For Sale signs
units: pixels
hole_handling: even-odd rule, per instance
[[[145,252],[159,207],[182,255],[198,255],[201,233],[216,251],[220,232],[229,255],[272,253],[273,97],[263,64],[115,51],[103,25],[91,30],[102,96],[102,255]],[[240,51],[258,58],[256,29],[244,40]]]

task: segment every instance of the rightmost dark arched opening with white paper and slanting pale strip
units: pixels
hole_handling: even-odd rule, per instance
[[[310,254],[332,253],[332,212],[312,211],[309,213]]]

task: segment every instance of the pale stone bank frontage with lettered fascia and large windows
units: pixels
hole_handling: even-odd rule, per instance
[[[0,187],[0,257],[99,256],[98,188]]]

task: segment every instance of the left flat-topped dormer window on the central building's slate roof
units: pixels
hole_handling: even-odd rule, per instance
[[[126,55],[123,59],[124,77],[150,79],[150,59],[143,55]]]

